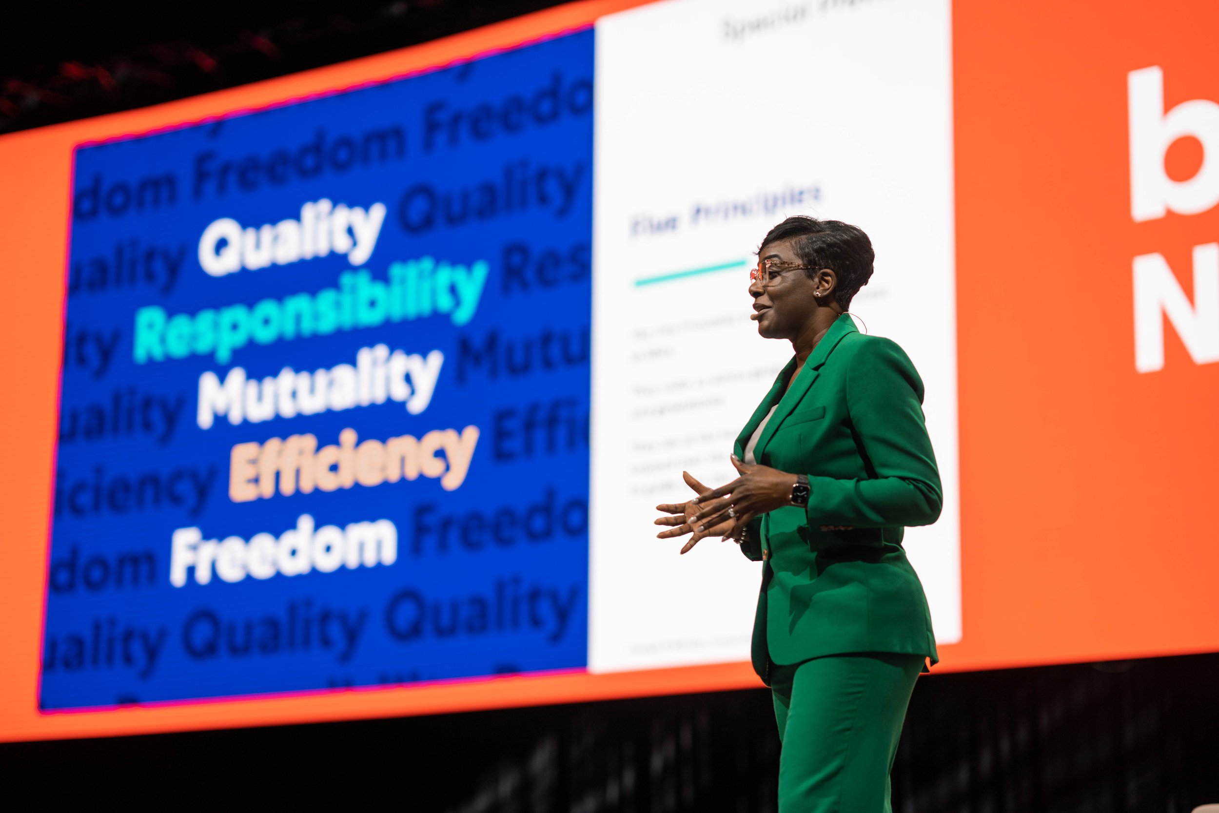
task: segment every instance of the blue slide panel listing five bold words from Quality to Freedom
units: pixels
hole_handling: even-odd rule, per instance
[[[79,147],[44,711],[583,669],[592,32]]]

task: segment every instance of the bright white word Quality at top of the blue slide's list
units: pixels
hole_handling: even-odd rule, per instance
[[[299,221],[243,228],[233,218],[222,217],[199,238],[199,264],[212,277],[223,277],[243,268],[286,266],[334,251],[347,255],[352,266],[361,266],[373,256],[384,222],[385,204],[373,204],[364,211],[360,206],[335,206],[325,197],[301,206]]]

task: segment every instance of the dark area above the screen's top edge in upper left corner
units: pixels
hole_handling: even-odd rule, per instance
[[[557,0],[6,0],[0,135],[424,43]]]

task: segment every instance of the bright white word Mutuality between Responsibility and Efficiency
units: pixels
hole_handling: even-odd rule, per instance
[[[432,403],[444,363],[439,350],[421,356],[377,345],[356,351],[355,366],[335,364],[312,373],[284,367],[261,382],[247,378],[241,367],[229,369],[223,384],[207,371],[199,377],[195,421],[200,429],[211,429],[222,414],[235,427],[243,421],[262,423],[385,401],[399,401],[411,414],[419,414]]]

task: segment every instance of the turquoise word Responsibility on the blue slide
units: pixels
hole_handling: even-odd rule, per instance
[[[133,357],[137,364],[146,364],[213,356],[227,364],[233,351],[250,341],[269,345],[433,313],[449,314],[460,327],[474,317],[489,268],[484,260],[467,267],[421,257],[391,264],[388,282],[373,279],[363,269],[347,271],[339,274],[338,288],[265,299],[254,307],[229,305],[169,316],[163,307],[150,305],[135,312]]]

